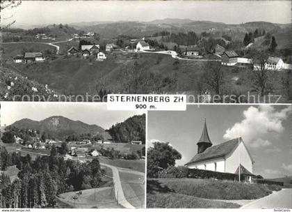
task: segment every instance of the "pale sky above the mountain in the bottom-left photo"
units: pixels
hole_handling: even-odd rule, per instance
[[[108,129],[113,124],[138,114],[143,112],[106,110],[106,103],[2,102],[1,126],[8,126],[25,118],[41,121],[50,116],[64,116],[73,121],[96,124]]]

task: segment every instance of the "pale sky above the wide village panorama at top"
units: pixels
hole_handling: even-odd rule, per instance
[[[70,24],[73,22],[152,21],[165,18],[239,24],[291,22],[291,1],[22,1],[1,11],[5,24]]]

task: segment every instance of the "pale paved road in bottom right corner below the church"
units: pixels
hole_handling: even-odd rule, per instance
[[[292,188],[283,188],[282,190],[275,191],[272,194],[263,197],[261,199],[257,199],[254,202],[250,202],[249,204],[245,204],[241,207],[241,209],[291,209],[292,208]]]

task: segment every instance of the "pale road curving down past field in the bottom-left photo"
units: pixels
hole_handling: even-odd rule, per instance
[[[115,199],[117,199],[117,202],[120,205],[124,206],[126,209],[135,209],[135,207],[132,206],[127,201],[126,197],[124,197],[124,191],[122,190],[122,184],[120,181],[120,174],[119,174],[119,170],[117,169],[117,167],[114,167],[112,165],[108,165],[105,163],[100,163],[100,165],[111,168],[111,170],[113,172],[113,183],[115,185]]]

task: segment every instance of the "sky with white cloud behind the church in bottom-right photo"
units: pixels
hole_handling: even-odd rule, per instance
[[[188,105],[185,112],[154,112],[147,116],[147,146],[169,142],[184,165],[197,153],[204,118],[213,145],[240,135],[264,178],[291,176],[291,105]]]

